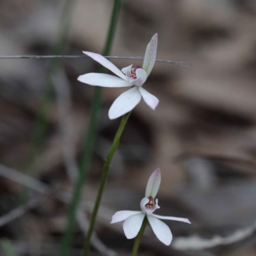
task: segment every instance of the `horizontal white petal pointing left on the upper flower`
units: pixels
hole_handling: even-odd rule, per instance
[[[77,78],[78,81],[90,85],[103,87],[126,87],[130,86],[125,80],[108,74],[89,73]]]

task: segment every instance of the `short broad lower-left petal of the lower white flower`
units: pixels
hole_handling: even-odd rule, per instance
[[[128,219],[124,221],[124,234],[127,237],[127,239],[132,239],[138,235],[138,232],[140,231],[142,221],[145,218],[144,213],[139,213],[130,216]]]

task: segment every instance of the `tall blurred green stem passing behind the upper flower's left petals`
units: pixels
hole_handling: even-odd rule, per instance
[[[115,0],[113,3],[113,11],[111,14],[111,21],[109,24],[108,38],[106,40],[106,45],[104,47],[103,55],[108,56],[111,51],[111,45],[113,42],[116,23],[118,21],[118,14],[120,10],[121,0]],[[106,68],[100,67],[99,72],[105,73]],[[72,236],[74,233],[74,225],[76,223],[76,213],[81,198],[82,189],[84,186],[84,181],[88,173],[88,168],[90,166],[90,160],[92,158],[92,148],[95,141],[95,136],[97,132],[97,124],[99,120],[99,109],[102,99],[102,88],[97,86],[93,95],[92,109],[90,113],[90,121],[88,124],[88,132],[84,140],[84,148],[82,153],[82,160],[80,166],[79,176],[77,177],[76,183],[74,184],[74,192],[72,195],[72,202],[68,211],[68,220],[65,234],[62,237],[60,255],[67,256],[72,241]]]

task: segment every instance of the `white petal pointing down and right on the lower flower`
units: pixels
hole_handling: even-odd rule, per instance
[[[165,245],[170,245],[172,242],[172,232],[170,228],[163,221],[158,220],[154,216],[149,215],[147,218],[156,237]]]

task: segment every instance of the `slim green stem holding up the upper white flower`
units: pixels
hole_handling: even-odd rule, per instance
[[[91,240],[91,237],[92,237],[92,234],[93,234],[93,229],[94,229],[94,226],[95,226],[95,221],[96,221],[97,213],[98,213],[98,210],[99,210],[100,200],[102,198],[104,186],[106,184],[106,180],[107,180],[107,177],[108,177],[109,167],[110,167],[111,161],[113,159],[113,156],[116,152],[116,149],[118,148],[120,137],[122,135],[122,132],[124,131],[125,124],[127,123],[127,120],[128,120],[130,115],[131,115],[131,111],[129,113],[125,114],[122,117],[122,121],[121,121],[121,123],[118,127],[115,138],[113,140],[113,143],[111,145],[111,148],[108,152],[108,156],[107,156],[105,164],[104,164],[103,173],[102,173],[102,177],[101,177],[101,180],[100,180],[100,187],[99,187],[97,198],[95,200],[95,205],[94,205],[93,212],[92,212],[92,218],[91,218],[91,221],[90,221],[90,227],[89,227],[88,234],[86,236],[86,241],[85,241],[85,244],[84,244],[84,253],[83,253],[84,256],[88,255],[88,252],[90,250],[90,240]]]

